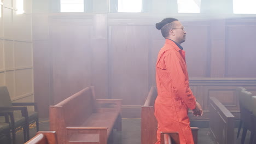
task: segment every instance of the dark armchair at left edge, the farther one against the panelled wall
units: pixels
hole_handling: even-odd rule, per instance
[[[24,141],[30,139],[29,125],[36,122],[39,130],[38,112],[36,103],[12,103],[6,86],[0,87],[0,113],[10,116],[11,133],[15,143],[15,133],[18,128],[23,128]],[[34,111],[27,111],[27,106],[34,106]]]

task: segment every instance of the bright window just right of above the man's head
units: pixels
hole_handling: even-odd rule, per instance
[[[178,0],[178,13],[200,13],[201,0]]]

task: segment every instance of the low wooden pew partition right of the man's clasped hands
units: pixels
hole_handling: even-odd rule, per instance
[[[234,119],[235,116],[219,100],[210,97],[210,131],[217,143],[235,143]]]

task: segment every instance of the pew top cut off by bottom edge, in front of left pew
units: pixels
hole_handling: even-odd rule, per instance
[[[32,137],[25,144],[57,144],[56,131],[38,131],[37,135]]]

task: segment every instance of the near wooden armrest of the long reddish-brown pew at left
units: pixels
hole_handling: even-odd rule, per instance
[[[66,139],[66,142],[69,142],[69,143],[75,143],[77,141],[80,141],[80,140],[70,140],[71,137],[75,134],[98,134],[99,135],[99,141],[100,143],[107,143],[107,140],[108,140],[108,133],[107,133],[107,129],[108,127],[66,127],[66,134],[67,134],[67,139]],[[84,138],[84,136],[82,137],[82,139]],[[86,139],[86,138],[84,138]],[[83,140],[84,140],[83,139]],[[83,141],[83,142],[80,142],[80,143],[83,143],[83,144],[86,144],[86,143],[92,143],[90,142],[90,140],[86,140]]]

